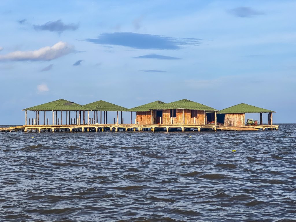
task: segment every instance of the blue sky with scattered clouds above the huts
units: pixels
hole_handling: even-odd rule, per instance
[[[295,8],[2,0],[0,124],[23,124],[23,108],[60,98],[128,108],[186,98],[218,110],[243,102],[295,123]]]

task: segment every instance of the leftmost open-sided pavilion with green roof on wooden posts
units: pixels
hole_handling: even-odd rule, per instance
[[[30,122],[30,119],[29,119],[29,121],[27,121],[27,110],[36,112],[36,119],[34,121],[34,125],[39,125],[39,112],[40,111],[44,111],[44,125],[46,125],[46,123],[48,124],[48,119],[46,121],[46,111],[52,112],[52,125],[54,125],[54,116],[55,116],[55,124],[62,125],[63,124],[63,112],[66,112],[66,121],[64,123],[67,125],[67,124],[70,124],[70,111],[76,111],[76,116],[75,116],[76,118],[73,118],[74,121],[72,120],[71,124],[73,122],[77,124],[77,119],[78,119],[78,123],[80,123],[81,111],[89,111],[91,109],[89,107],[85,107],[85,106],[77,104],[75,102],[70,102],[65,99],[58,99],[58,100],[55,100],[52,102],[47,102],[47,103],[40,104],[40,105],[33,106],[33,107],[29,107],[29,108],[26,108],[23,110],[25,110],[25,118],[26,118],[25,125],[27,125],[27,123]],[[61,115],[60,115],[61,122],[60,123],[57,120],[57,112],[58,111],[61,112]],[[78,118],[77,111],[79,112],[79,118]],[[33,119],[30,123],[33,124]]]

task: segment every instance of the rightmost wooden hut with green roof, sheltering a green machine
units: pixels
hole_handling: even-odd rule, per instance
[[[260,113],[260,125],[263,125],[262,113],[268,113],[268,125],[272,125],[273,112],[274,111],[241,103],[220,110],[217,113],[217,123],[224,126],[245,126],[246,113]]]

